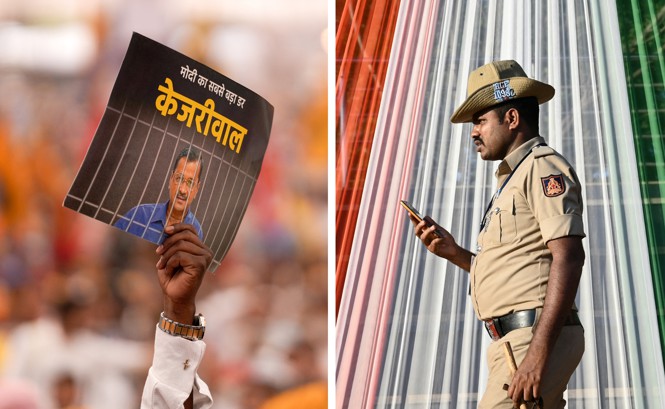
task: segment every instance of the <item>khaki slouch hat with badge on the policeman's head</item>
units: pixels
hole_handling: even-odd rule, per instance
[[[471,122],[475,113],[510,99],[536,97],[542,104],[552,99],[554,88],[527,77],[517,62],[506,60],[494,61],[472,71],[466,95],[466,101],[455,110],[450,122]]]

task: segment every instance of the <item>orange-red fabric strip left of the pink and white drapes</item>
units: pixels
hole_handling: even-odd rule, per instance
[[[336,314],[388,68],[399,0],[337,1]]]

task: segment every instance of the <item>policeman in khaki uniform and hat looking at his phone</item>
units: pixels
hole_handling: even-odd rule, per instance
[[[515,61],[474,70],[451,121],[472,122],[480,157],[501,161],[475,253],[431,218],[411,218],[430,252],[471,274],[473,306],[493,340],[480,408],[539,399],[547,409],[564,407],[563,393],[584,352],[574,305],[584,264],[580,182],[538,130],[539,104],[553,96],[552,86],[528,78]],[[518,363],[513,377],[506,341]]]

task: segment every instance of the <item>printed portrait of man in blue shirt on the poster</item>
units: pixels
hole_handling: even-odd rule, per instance
[[[199,238],[203,240],[201,224],[190,210],[200,188],[202,172],[201,153],[193,147],[183,149],[176,157],[169,176],[169,200],[165,203],[140,204],[121,216],[114,226],[161,244],[165,237],[165,227],[187,223],[194,226]]]

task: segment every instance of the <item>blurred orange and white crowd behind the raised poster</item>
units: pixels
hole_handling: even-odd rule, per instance
[[[197,305],[215,408],[325,383],[326,25],[322,0],[0,0],[3,400],[138,407],[162,309],[155,246],[62,207],[132,31],[275,107],[249,209]]]

